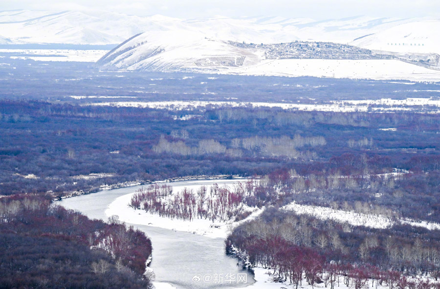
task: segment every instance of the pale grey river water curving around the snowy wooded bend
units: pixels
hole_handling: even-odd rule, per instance
[[[174,191],[181,187],[233,185],[239,180],[197,180],[167,183]],[[118,197],[131,194],[142,186],[131,186],[67,198],[62,206],[82,212],[91,219],[107,220],[105,211]],[[157,288],[177,289],[239,288],[254,283],[253,275],[238,260],[225,254],[222,238],[209,238],[189,232],[161,227],[130,224],[145,232],[153,244],[153,260]],[[171,288],[171,287],[170,287]]]

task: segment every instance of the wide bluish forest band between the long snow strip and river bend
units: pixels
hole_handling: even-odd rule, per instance
[[[58,196],[135,180],[252,176],[280,168],[318,177],[382,174],[393,168],[422,175],[440,167],[439,118],[406,112],[251,106],[161,110],[1,101],[0,194],[51,191]],[[379,130],[389,127],[396,131]]]

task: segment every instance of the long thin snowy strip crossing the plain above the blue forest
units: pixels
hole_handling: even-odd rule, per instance
[[[76,99],[83,98],[115,98],[113,96],[72,96]],[[128,97],[126,97],[128,98]],[[283,109],[302,111],[335,111],[335,112],[367,112],[369,110],[381,111],[420,111],[425,109],[427,113],[440,113],[440,99],[434,98],[407,98],[404,100],[379,99],[379,100],[356,100],[356,101],[332,101],[329,104],[306,104],[306,103],[262,103],[262,102],[215,102],[215,101],[164,101],[164,102],[104,102],[88,103],[88,105],[119,106],[119,107],[149,107],[170,110],[185,108],[201,108],[208,105],[231,106],[231,107],[280,107]],[[372,107],[374,106],[374,107]],[[379,106],[379,107],[375,107]],[[385,106],[385,107],[380,107]]]

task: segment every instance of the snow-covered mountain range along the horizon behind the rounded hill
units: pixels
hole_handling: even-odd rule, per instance
[[[103,11],[0,12],[3,43],[118,44],[142,32],[158,31],[200,33],[209,39],[247,43],[330,41],[394,52],[440,53],[440,19],[432,18],[314,21],[265,16],[177,19]]]

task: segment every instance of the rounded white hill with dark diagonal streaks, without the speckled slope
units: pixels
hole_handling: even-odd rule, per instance
[[[262,51],[213,40],[202,33],[147,32],[123,43],[98,63],[104,68],[150,71],[218,71],[255,65]]]

